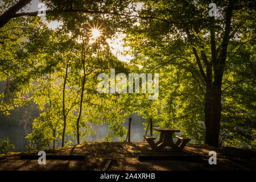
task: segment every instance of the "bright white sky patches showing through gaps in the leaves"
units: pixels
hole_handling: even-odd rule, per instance
[[[30,5],[27,5],[25,9],[23,9],[26,12],[32,12],[32,11],[38,11],[40,7],[38,7],[40,1],[39,0],[32,0]],[[142,3],[137,4],[137,10],[141,9]],[[46,7],[47,9],[47,7]],[[44,18],[44,17],[42,17]],[[46,21],[44,21],[46,22]],[[55,29],[57,26],[61,26],[61,22],[52,21],[52,22],[46,22],[49,28]],[[137,23],[138,24],[138,23]],[[117,56],[117,58],[121,61],[125,61],[127,63],[130,62],[131,59],[133,59],[133,56],[131,56],[129,53],[126,55],[123,55],[123,51],[130,51],[129,47],[123,47],[123,44],[125,43],[123,41],[123,38],[125,38],[125,34],[118,34],[115,39],[110,40],[108,39],[107,42],[109,46],[112,49],[112,53]]]

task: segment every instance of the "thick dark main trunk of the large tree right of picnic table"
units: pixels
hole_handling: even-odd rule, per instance
[[[235,1],[236,2],[236,1]],[[206,80],[206,94],[205,94],[205,144],[218,147],[218,140],[220,134],[221,122],[221,86],[222,78],[226,62],[226,54],[228,51],[229,34],[231,30],[231,19],[234,1],[229,1],[228,7],[225,10],[225,30],[222,37],[219,55],[217,55],[215,48],[215,33],[214,29],[210,28],[210,39],[212,48],[212,64],[214,72],[214,81],[212,86],[209,86]],[[212,23],[214,19],[210,19]]]

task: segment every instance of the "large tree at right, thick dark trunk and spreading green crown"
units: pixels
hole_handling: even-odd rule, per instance
[[[255,29],[251,26],[254,20],[250,17],[254,3],[218,2],[220,14],[216,18],[208,15],[209,3],[144,1],[139,15],[157,16],[162,20],[140,19],[140,25],[130,30],[128,39],[135,49],[134,55],[147,68],[168,69],[168,65],[176,65],[187,72],[185,75],[191,74],[201,90],[200,94],[204,95],[205,144],[217,147],[223,76],[227,57],[229,59],[230,55],[236,54],[230,49],[230,40],[239,39],[240,46],[255,40]],[[245,19],[246,24],[242,21]],[[245,42],[242,42],[243,35]]]

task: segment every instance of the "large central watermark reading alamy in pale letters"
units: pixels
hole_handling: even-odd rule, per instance
[[[102,80],[103,78],[103,80]],[[141,87],[140,87],[141,78]],[[100,73],[98,80],[98,93],[127,93],[127,76],[125,73],[118,73],[115,76],[115,69],[110,69],[110,86],[109,76],[106,73]],[[117,84],[116,84],[117,82]],[[134,84],[135,82],[135,84]],[[128,93],[150,93],[149,100],[155,100],[159,96],[159,73],[129,73],[128,76]]]

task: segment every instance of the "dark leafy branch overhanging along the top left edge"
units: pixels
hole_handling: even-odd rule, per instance
[[[19,0],[15,1],[3,1],[2,3],[2,15],[0,16],[0,28],[5,26],[9,20],[22,16],[36,16],[38,11],[34,12],[22,12],[18,13],[19,10],[22,10],[26,5],[28,5],[31,0]],[[85,13],[85,14],[100,14],[100,15],[116,15],[119,16],[118,19],[122,19],[122,16],[127,17],[137,17],[137,15],[131,15],[134,10],[134,7],[131,7],[133,1],[56,1],[56,0],[45,0],[42,1],[46,3],[49,10],[46,11],[47,15],[60,15],[62,16],[65,13]],[[6,7],[9,7],[6,10]],[[130,7],[129,9],[127,7]],[[119,21],[118,21],[119,22]]]

